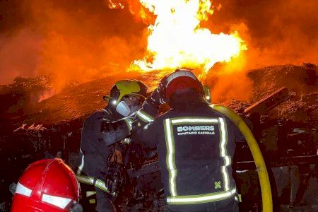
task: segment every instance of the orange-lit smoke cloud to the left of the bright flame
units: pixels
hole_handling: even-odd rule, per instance
[[[1,1],[0,83],[49,74],[54,90],[126,70],[143,55],[143,28],[105,1]]]

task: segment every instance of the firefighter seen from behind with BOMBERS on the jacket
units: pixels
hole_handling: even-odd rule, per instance
[[[155,117],[165,102],[170,110]],[[237,129],[204,99],[192,71],[163,78],[134,125],[132,142],[157,148],[168,211],[238,211],[231,167]]]

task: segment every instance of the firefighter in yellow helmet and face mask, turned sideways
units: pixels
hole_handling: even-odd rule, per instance
[[[140,109],[146,90],[141,81],[117,81],[110,95],[104,97],[108,101],[107,107],[94,112],[84,122],[76,172],[81,183],[84,211],[116,211],[112,200],[117,196],[117,179],[107,176],[110,172],[116,174],[110,170],[108,162],[122,163],[120,152],[114,145],[129,136],[130,116]]]

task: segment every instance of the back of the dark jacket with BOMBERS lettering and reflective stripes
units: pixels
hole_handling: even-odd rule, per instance
[[[158,143],[168,208],[172,211],[235,211],[231,160],[232,124],[201,98],[180,96],[158,122]],[[182,105],[183,104],[183,105]],[[159,123],[158,123],[159,124]],[[229,206],[228,206],[229,205]]]

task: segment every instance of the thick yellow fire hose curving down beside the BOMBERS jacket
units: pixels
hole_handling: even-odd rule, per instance
[[[271,198],[271,184],[269,182],[269,174],[266,170],[266,165],[264,162],[263,155],[261,155],[261,150],[259,149],[259,145],[255,140],[252,131],[250,131],[249,127],[243,119],[230,110],[228,107],[224,107],[222,105],[212,105],[213,109],[224,114],[228,117],[242,132],[243,136],[245,136],[245,140],[249,145],[249,149],[252,152],[254,163],[257,167],[257,174],[259,175],[259,184],[261,184],[261,200],[263,204],[264,212],[272,212],[273,211],[273,202]]]

